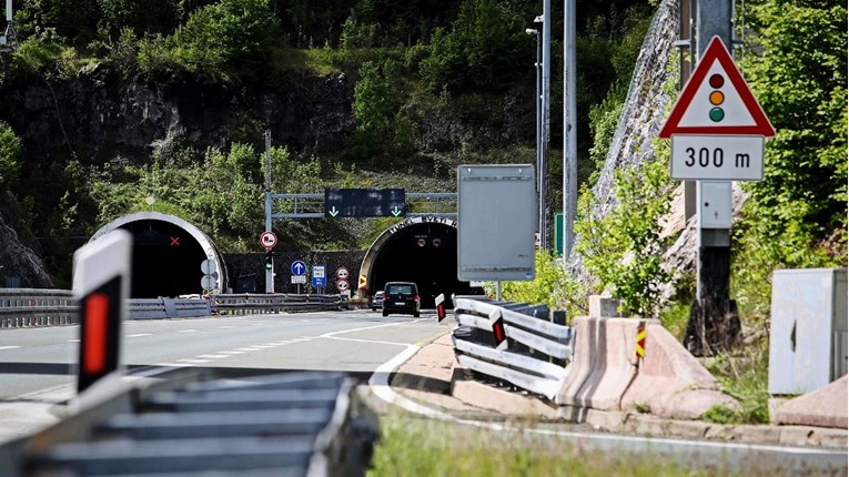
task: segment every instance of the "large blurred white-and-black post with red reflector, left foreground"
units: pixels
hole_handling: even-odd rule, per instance
[[[131,247],[132,235],[115,230],[73,254],[73,295],[80,303],[78,393],[118,369]]]

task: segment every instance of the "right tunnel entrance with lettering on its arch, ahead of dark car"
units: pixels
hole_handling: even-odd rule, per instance
[[[373,295],[386,282],[415,282],[424,308],[433,308],[441,293],[446,306],[453,307],[452,294],[476,292],[457,278],[456,223],[437,216],[410,217],[377,237],[363,258],[360,288]]]

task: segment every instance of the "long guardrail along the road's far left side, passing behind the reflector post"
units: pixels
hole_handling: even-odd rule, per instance
[[[347,309],[344,295],[228,294],[203,298],[133,298],[129,319],[189,318]],[[0,328],[73,325],[79,304],[69,290],[0,288]]]

